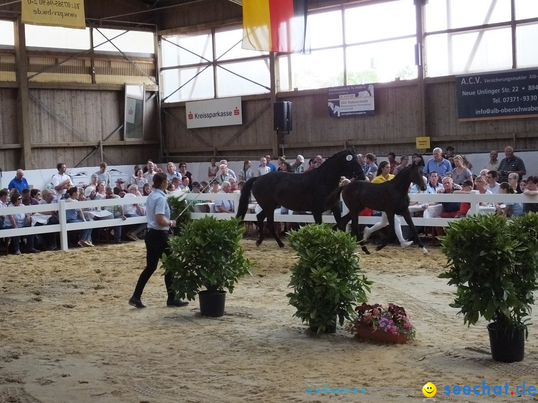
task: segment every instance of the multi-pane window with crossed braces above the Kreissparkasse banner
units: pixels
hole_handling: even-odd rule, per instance
[[[163,101],[269,92],[269,52],[243,49],[242,39],[238,27],[163,37]]]

